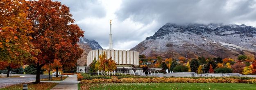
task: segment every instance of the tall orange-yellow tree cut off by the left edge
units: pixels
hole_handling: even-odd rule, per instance
[[[9,71],[23,65],[24,60],[36,60],[31,52],[37,54],[28,34],[33,33],[32,26],[27,20],[25,0],[0,0],[0,64],[1,68]]]

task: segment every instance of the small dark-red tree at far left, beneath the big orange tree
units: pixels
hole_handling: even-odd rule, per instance
[[[8,63],[8,62],[0,62],[0,70],[7,69],[7,77],[9,77],[9,72],[11,69],[20,68],[20,64]]]

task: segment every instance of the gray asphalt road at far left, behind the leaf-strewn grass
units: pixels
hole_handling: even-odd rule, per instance
[[[18,75],[18,74],[16,74],[16,75]],[[24,76],[24,77],[1,77],[0,78],[0,88],[10,86],[13,84],[26,83],[29,81],[36,80],[36,75],[19,75],[19,76]]]

